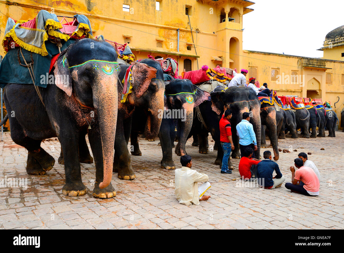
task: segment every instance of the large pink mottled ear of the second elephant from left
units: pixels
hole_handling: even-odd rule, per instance
[[[151,80],[157,76],[157,69],[144,63],[135,62],[131,75],[133,92],[139,98],[148,89]]]

